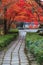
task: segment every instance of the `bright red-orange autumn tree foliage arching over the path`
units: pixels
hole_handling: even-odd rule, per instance
[[[12,3],[7,7],[5,12],[5,18],[9,20],[10,18],[14,21],[24,21],[24,22],[38,22],[39,19],[43,22],[43,10],[38,4],[32,0],[31,4],[27,3],[25,0],[2,0],[2,7],[9,3]],[[1,9],[0,9],[1,10]]]

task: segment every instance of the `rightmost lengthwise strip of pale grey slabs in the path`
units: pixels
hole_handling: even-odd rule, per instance
[[[24,47],[25,47],[24,44],[25,43],[22,43],[22,46],[21,46],[20,51],[19,51],[19,54],[20,54],[20,62],[21,62],[21,65],[29,65],[28,64],[27,57],[26,57],[26,55],[24,53]]]

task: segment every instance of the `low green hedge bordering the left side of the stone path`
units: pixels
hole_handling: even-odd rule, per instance
[[[0,50],[5,48],[10,42],[17,37],[18,34],[7,34],[0,36]]]

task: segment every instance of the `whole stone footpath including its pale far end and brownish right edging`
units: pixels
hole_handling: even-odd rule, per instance
[[[25,53],[25,35],[22,31],[16,41],[12,42],[11,47],[6,52],[0,54],[0,65],[38,65],[31,53]],[[24,51],[25,49],[25,51]]]

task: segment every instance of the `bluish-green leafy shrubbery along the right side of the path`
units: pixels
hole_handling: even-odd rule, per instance
[[[43,65],[43,37],[37,33],[27,33],[26,46],[35,56],[36,60]]]

